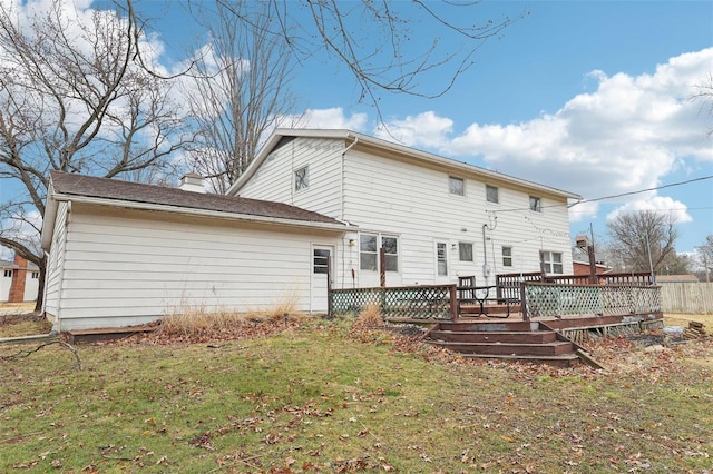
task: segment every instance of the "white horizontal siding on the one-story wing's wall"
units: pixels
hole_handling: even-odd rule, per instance
[[[125,326],[167,313],[293,306],[310,310],[315,237],[156,213],[72,208],[62,328]]]

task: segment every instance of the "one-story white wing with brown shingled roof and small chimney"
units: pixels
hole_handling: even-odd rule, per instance
[[[52,172],[45,313],[57,330],[167,313],[326,312],[326,258],[349,225],[280,203]]]

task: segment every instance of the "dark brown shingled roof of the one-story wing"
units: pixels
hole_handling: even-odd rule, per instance
[[[184,191],[178,188],[143,185],[118,179],[96,178],[51,171],[55,192],[116,199],[130,203],[157,204],[175,208],[214,210],[225,214],[302,220],[305,223],[343,224],[319,213],[282,203],[247,199],[234,196]]]

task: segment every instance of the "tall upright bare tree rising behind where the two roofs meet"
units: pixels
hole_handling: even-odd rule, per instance
[[[251,18],[250,22],[241,18]],[[265,132],[292,112],[286,88],[290,47],[265,31],[279,28],[268,3],[217,3],[196,14],[211,34],[183,82],[201,134],[192,150],[195,171],[225,192],[252,161]]]

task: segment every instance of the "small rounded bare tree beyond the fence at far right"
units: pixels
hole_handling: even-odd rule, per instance
[[[674,245],[678,237],[675,224],[671,213],[619,214],[607,223],[611,264],[622,271],[648,271],[653,267],[660,273],[665,263],[675,257]]]

